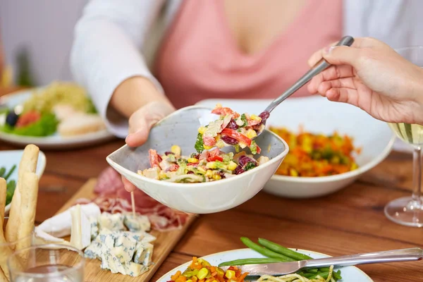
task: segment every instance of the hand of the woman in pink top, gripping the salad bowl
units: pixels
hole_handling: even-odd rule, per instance
[[[168,116],[175,108],[147,78],[134,77],[122,82],[111,97],[114,106],[123,116],[129,117],[129,135],[126,144],[130,147],[143,145],[152,126]],[[135,185],[122,177],[125,190],[132,192]]]

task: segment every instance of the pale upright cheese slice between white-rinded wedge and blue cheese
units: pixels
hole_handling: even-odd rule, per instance
[[[71,245],[79,250],[83,250],[91,243],[91,223],[87,216],[81,212],[80,205],[71,209]]]

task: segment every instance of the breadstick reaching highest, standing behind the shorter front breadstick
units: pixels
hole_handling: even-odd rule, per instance
[[[6,240],[13,243],[18,238],[18,226],[20,225],[20,205],[21,205],[21,188],[20,183],[23,182],[23,175],[26,172],[35,173],[37,168],[39,148],[35,145],[27,145],[23,151],[22,159],[20,159],[18,169],[18,182],[16,183],[16,190],[13,193],[11,211],[9,212],[9,219],[6,225]],[[12,245],[14,249],[14,245]]]

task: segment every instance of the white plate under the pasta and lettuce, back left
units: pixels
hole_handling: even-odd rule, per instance
[[[8,108],[13,108],[18,104],[25,102],[25,100],[30,97],[33,91],[34,90],[23,90],[11,94],[6,94],[0,97],[0,104],[6,104]],[[20,146],[34,144],[42,149],[75,149],[96,145],[113,138],[114,135],[109,133],[107,130],[101,130],[95,133],[88,133],[72,137],[62,137],[57,133],[47,137],[31,137],[14,135],[0,131],[0,140],[4,140],[6,142],[12,143],[13,145]]]

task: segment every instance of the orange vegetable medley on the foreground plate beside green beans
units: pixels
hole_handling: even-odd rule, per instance
[[[223,271],[218,266],[212,266],[204,259],[192,257],[192,263],[183,271],[176,271],[168,282],[243,282],[248,272],[241,273],[240,269],[231,266]]]

